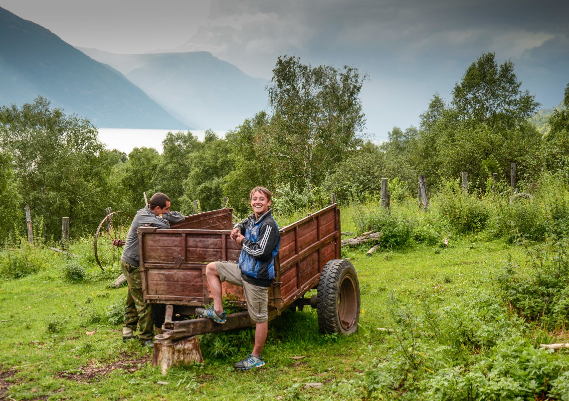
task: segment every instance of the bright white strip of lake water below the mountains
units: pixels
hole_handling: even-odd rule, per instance
[[[162,141],[170,131],[179,130],[137,130],[131,128],[98,128],[99,140],[107,149],[118,149],[129,154],[134,148],[154,148],[162,153]],[[187,132],[187,131],[184,131]],[[200,140],[204,139],[205,130],[191,130]],[[226,131],[216,131],[217,136],[224,137]]]

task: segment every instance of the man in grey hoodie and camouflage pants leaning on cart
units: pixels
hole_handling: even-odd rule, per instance
[[[152,308],[150,303],[144,302],[141,275],[138,271],[140,260],[137,228],[143,225],[170,228],[170,223],[179,223],[183,220],[184,216],[180,212],[170,211],[170,198],[158,192],[152,195],[146,207],[137,212],[130,224],[121,256],[122,273],[125,274],[126,282],[129,284],[126,296],[125,326],[122,329],[124,341],[139,338],[144,346],[154,345],[152,342],[152,337],[154,337]],[[134,335],[137,325],[140,328],[140,337]]]

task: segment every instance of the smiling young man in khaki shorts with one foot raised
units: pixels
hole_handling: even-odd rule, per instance
[[[261,356],[267,339],[268,292],[275,278],[274,260],[279,251],[281,233],[271,215],[271,191],[255,187],[250,194],[253,214],[237,223],[231,238],[242,247],[239,262],[211,262],[205,268],[213,297],[213,308],[197,308],[196,313],[217,323],[225,323],[225,310],[221,298],[221,282],[228,281],[243,287],[247,310],[255,322],[255,346],[235,369],[247,370],[265,365]]]

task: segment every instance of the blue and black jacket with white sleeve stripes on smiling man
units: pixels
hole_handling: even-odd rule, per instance
[[[239,257],[241,277],[259,287],[269,287],[275,278],[274,262],[281,242],[281,233],[271,210],[257,220],[255,214],[251,214],[235,227],[245,236]]]

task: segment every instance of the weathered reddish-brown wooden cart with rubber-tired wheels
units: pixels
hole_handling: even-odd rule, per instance
[[[212,302],[205,266],[237,261],[241,250],[230,239],[229,208],[187,216],[170,229],[138,228],[140,272],[146,302],[164,311],[162,334],[156,340],[176,340],[203,333],[250,327],[241,287],[222,283],[243,312],[229,314],[225,324],[188,319],[196,307]],[[290,307],[318,310],[321,332],[353,333],[360,317],[360,286],[352,264],[340,256],[340,211],[332,204],[281,228],[275,259],[275,279],[269,288],[269,320]],[[311,289],[317,294],[304,295]]]

